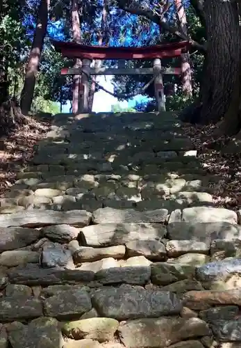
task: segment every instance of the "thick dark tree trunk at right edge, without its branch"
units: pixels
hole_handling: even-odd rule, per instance
[[[208,0],[203,12],[208,51],[203,67],[200,122],[206,124],[218,122],[231,110],[232,115],[238,114],[235,93],[237,86],[239,90],[241,45],[237,3]]]

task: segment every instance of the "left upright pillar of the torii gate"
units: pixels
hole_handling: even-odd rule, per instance
[[[83,59],[82,69],[84,72],[81,74],[81,85],[83,85],[83,93],[79,95],[78,112],[88,113],[89,112],[89,93],[90,93],[90,59]],[[81,91],[81,89],[80,89]]]

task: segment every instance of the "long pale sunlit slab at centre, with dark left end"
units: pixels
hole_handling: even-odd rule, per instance
[[[81,229],[81,244],[88,246],[113,246],[142,239],[155,241],[165,236],[160,223],[101,223]]]

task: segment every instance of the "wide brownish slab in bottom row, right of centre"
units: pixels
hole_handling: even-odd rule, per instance
[[[164,348],[203,335],[210,335],[210,330],[199,318],[135,319],[119,326],[119,336],[128,348]]]

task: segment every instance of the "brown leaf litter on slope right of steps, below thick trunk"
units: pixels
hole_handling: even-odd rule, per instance
[[[209,182],[208,189],[213,196],[216,207],[238,210],[241,207],[241,153],[230,155],[222,153],[231,137],[214,136],[216,125],[190,125],[184,127],[204,171],[216,175],[219,180]]]

